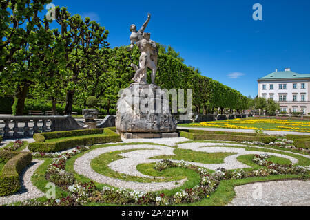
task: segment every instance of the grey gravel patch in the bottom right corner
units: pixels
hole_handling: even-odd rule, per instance
[[[269,181],[234,190],[236,197],[227,206],[310,206],[310,181]]]

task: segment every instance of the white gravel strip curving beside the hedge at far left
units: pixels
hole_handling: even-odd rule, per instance
[[[35,170],[43,164],[43,160],[34,159],[32,163],[26,167],[20,175],[21,178],[21,189],[14,195],[6,197],[0,197],[0,206],[4,204],[14,203],[17,201],[24,201],[26,199],[35,199],[43,197],[45,194],[41,192],[36,186],[32,184],[31,177]]]

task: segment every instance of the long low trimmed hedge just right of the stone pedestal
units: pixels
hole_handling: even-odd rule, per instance
[[[191,140],[230,140],[230,141],[251,141],[270,143],[276,140],[273,136],[252,136],[252,135],[233,135],[233,134],[217,134],[217,133],[194,133],[181,130],[180,137],[186,137]]]

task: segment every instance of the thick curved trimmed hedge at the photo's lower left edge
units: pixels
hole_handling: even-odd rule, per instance
[[[1,159],[7,159],[14,153],[5,154],[1,152]],[[31,153],[18,153],[6,162],[0,173],[0,197],[12,195],[21,188],[19,174],[32,161]]]

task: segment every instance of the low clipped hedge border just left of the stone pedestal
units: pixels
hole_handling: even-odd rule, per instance
[[[101,131],[102,135],[99,135],[96,137],[87,137],[87,136],[81,135],[81,133],[83,133],[81,131],[85,131],[87,133],[87,135],[98,134],[98,132]],[[57,132],[54,132],[54,133],[57,133]],[[107,143],[107,142],[121,142],[122,141],[121,135],[116,134],[114,131],[112,131],[109,128],[76,130],[76,131],[68,131],[68,133],[60,131],[59,133],[61,133],[61,134],[54,134],[54,135],[50,135],[48,137],[54,138],[55,136],[59,137],[61,135],[66,135],[66,136],[61,136],[61,137],[70,137],[70,136],[67,136],[68,133],[72,133],[72,134],[79,133],[79,135],[81,137],[79,137],[79,135],[78,135],[77,137],[72,136],[72,138],[69,138],[66,140],[59,140],[59,141],[55,141],[55,142],[45,142],[45,140],[42,141],[42,138],[38,135],[36,138],[39,139],[39,142],[37,141],[34,143],[30,143],[28,146],[28,149],[30,149],[30,151],[32,151],[32,152],[48,153],[48,152],[63,151],[63,150],[67,150],[69,148],[74,148],[76,146],[89,146],[89,145],[93,145],[93,144],[103,144],[103,143]],[[44,137],[46,134],[50,134],[50,133],[41,133],[41,136]]]

